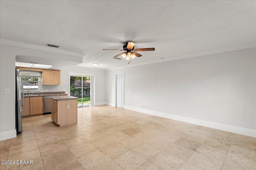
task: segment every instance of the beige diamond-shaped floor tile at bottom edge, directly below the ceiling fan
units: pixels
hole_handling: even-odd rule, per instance
[[[136,154],[132,150],[129,150],[128,152],[117,156],[113,160],[120,166],[122,166],[122,168],[124,168],[125,170],[134,170],[147,161],[147,159]]]

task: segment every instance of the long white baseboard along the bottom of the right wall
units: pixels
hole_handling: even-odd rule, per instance
[[[205,126],[205,127],[219,129],[219,130],[222,130],[222,131],[228,131],[228,132],[232,132],[232,133],[246,135],[246,136],[250,136],[250,137],[256,137],[256,130],[247,129],[247,128],[244,128],[244,127],[238,127],[238,126],[226,125],[226,124],[222,124],[222,123],[216,123],[216,122],[212,122],[212,121],[194,119],[194,118],[190,118],[190,117],[173,115],[173,114],[163,113],[163,112],[159,112],[159,111],[152,111],[152,110],[142,109],[142,108],[138,108],[138,107],[125,106],[124,109],[132,110],[132,111],[138,111],[138,112],[146,113],[146,114],[149,114],[149,115],[165,117],[165,118],[168,118],[168,119],[174,119],[174,120],[178,120],[178,121],[192,123],[192,124],[195,124],[195,125],[201,125],[201,126]]]

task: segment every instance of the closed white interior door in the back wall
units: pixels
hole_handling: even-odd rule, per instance
[[[124,74],[116,75],[116,106],[124,108]]]

